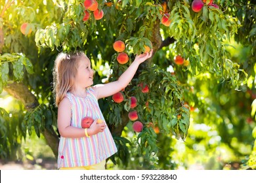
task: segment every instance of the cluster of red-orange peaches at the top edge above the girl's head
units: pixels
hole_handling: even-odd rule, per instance
[[[98,2],[96,0],[85,0],[83,5],[85,5],[85,16],[83,16],[83,21],[89,20],[91,15],[90,11],[93,12],[95,20],[102,19],[104,12],[103,10],[98,9]]]

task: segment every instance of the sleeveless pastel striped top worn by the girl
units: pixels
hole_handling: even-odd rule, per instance
[[[87,97],[85,98],[76,97],[70,92],[67,93],[66,97],[71,103],[70,125],[81,128],[81,119],[85,116],[104,120],[93,88],[87,90]],[[108,127],[103,132],[90,137],[76,139],[60,137],[58,168],[95,165],[116,152],[116,144]]]

